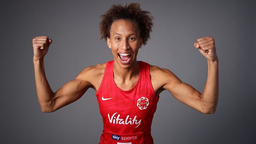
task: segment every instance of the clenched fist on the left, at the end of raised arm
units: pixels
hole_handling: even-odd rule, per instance
[[[46,55],[52,40],[48,36],[38,36],[33,38],[34,60],[43,59]]]

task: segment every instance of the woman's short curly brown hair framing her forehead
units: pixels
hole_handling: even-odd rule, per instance
[[[148,39],[150,39],[154,17],[151,16],[150,12],[142,11],[139,3],[126,4],[125,6],[122,6],[121,4],[113,4],[105,14],[101,15],[101,18],[100,39],[104,38],[105,41],[107,41],[107,37],[110,37],[112,23],[119,19],[137,22],[143,45],[146,45]]]

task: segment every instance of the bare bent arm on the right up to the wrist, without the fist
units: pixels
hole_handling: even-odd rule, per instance
[[[177,100],[205,114],[215,113],[218,103],[218,58],[208,61],[208,76],[202,93],[191,85],[182,82],[168,69],[159,70],[159,80],[163,89],[168,90]]]

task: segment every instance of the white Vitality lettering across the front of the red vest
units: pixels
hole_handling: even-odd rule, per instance
[[[127,117],[126,117],[126,119],[124,120],[124,119],[121,119],[120,118],[120,114],[118,114],[117,115],[117,117],[115,117],[115,115],[117,114],[117,112],[116,113],[114,113],[112,116],[111,116],[111,118],[110,118],[110,116],[109,116],[109,114],[108,114],[108,119],[109,119],[109,122],[110,123],[113,123],[113,124],[131,124],[131,125],[133,125],[133,124],[138,124],[136,127],[138,127],[139,125],[140,125],[140,123],[141,123],[141,119],[138,121],[136,118],[137,118],[137,116],[134,116],[134,118],[132,119],[132,118],[130,118],[130,116],[129,115],[127,115]],[[136,128],[135,127],[135,128]]]

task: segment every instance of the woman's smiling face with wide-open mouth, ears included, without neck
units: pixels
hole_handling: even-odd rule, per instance
[[[114,21],[107,43],[112,50],[115,63],[122,68],[129,68],[137,62],[138,50],[142,45],[138,24],[128,20]]]

